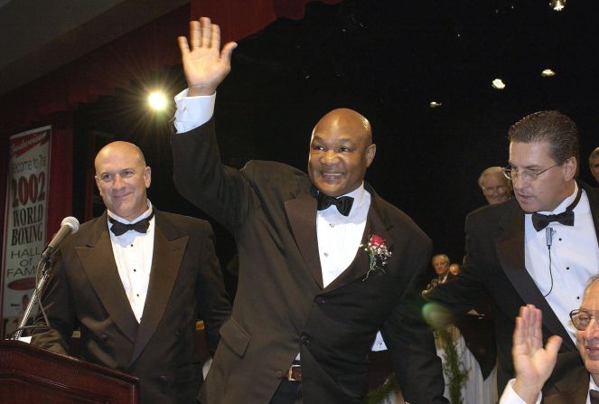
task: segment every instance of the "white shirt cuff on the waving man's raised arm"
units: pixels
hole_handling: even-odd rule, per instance
[[[188,97],[189,89],[183,89],[174,96],[177,110],[174,113],[174,127],[177,133],[189,132],[208,122],[214,114],[216,92],[211,96]]]

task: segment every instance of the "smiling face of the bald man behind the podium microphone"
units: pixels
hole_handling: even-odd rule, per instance
[[[137,146],[110,143],[99,151],[95,165],[96,184],[109,211],[132,221],[147,210],[145,190],[152,173]]]

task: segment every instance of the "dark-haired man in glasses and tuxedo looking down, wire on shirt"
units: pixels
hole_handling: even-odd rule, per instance
[[[569,117],[557,111],[531,114],[510,127],[509,138],[505,174],[516,197],[468,215],[463,270],[429,298],[462,314],[478,297],[491,297],[500,391],[514,374],[514,318],[520,306],[536,305],[543,312],[545,339],[556,334],[564,340],[545,384],[548,392],[583,366],[568,313],[580,304],[599,262],[599,195],[576,181],[578,134]]]

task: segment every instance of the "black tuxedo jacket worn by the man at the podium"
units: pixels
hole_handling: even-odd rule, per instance
[[[80,329],[80,357],[140,380],[143,403],[194,403],[201,387],[195,323],[204,320],[215,350],[228,297],[207,221],[155,212],[154,257],[141,323],[118,276],[107,213],[63,241],[43,293],[51,324],[32,343],[69,353]],[[41,316],[37,324],[44,324]]]

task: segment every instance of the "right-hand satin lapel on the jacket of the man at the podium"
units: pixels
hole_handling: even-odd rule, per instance
[[[144,350],[145,345],[154,335],[160,320],[164,316],[189,239],[188,236],[184,236],[168,240],[161,230],[164,225],[164,218],[158,211],[156,211],[155,217],[154,254],[152,257],[152,270],[150,271],[150,283],[145,297],[144,314],[139,324],[139,332],[130,363],[135,362]]]

